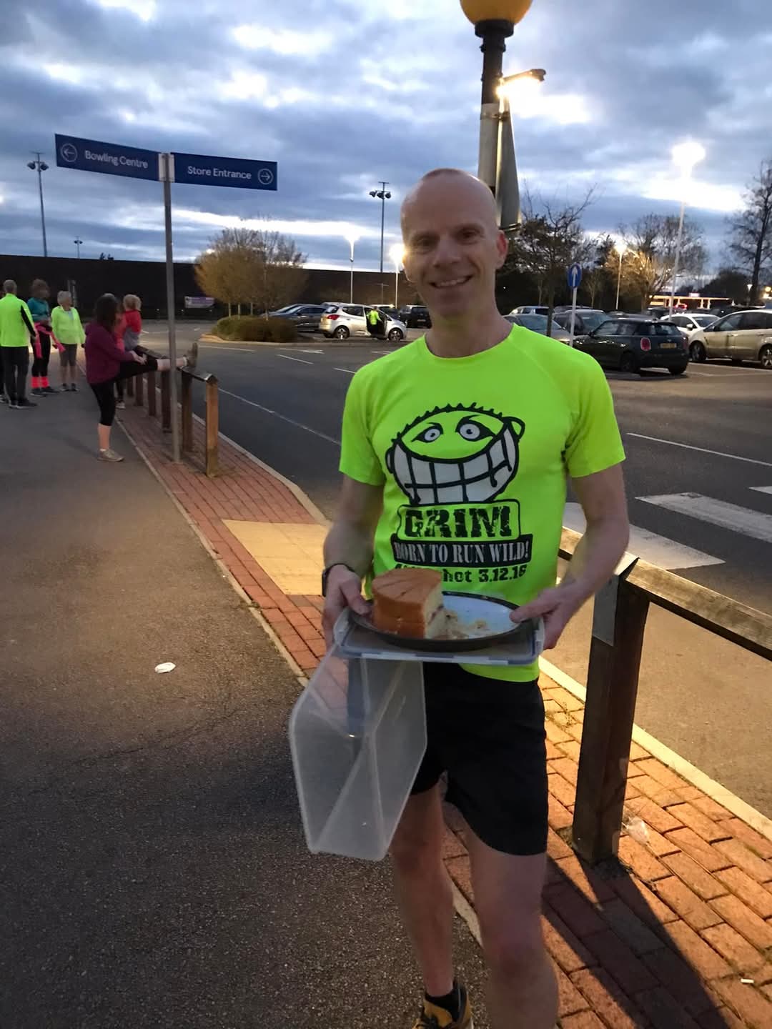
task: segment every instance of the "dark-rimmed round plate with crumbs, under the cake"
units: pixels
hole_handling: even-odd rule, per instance
[[[396,633],[386,633],[376,627],[370,617],[357,614],[349,609],[349,615],[354,625],[374,633],[387,643],[405,647],[406,650],[426,650],[433,653],[464,653],[471,650],[483,650],[498,643],[505,643],[513,636],[522,633],[523,625],[516,626],[510,620],[510,613],[517,609],[517,604],[493,597],[481,597],[471,593],[444,593],[445,607],[458,615],[459,622],[470,624],[482,619],[491,627],[491,633],[486,636],[470,636],[465,639],[435,639],[425,637],[397,636]],[[526,624],[527,625],[527,624]],[[508,628],[507,628],[508,626]]]

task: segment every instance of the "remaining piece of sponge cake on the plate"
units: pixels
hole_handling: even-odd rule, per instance
[[[443,576],[431,568],[393,568],[373,579],[373,625],[413,639],[436,639],[447,628]]]

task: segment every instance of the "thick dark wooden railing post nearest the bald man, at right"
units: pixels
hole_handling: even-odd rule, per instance
[[[617,854],[648,600],[625,581],[595,600],[573,845],[594,864]]]

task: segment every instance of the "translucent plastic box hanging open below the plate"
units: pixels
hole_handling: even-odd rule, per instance
[[[289,742],[309,850],[380,861],[426,749],[421,665],[335,647],[292,709]]]

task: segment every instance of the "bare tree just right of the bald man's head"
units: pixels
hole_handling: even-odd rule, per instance
[[[536,213],[533,199],[526,192],[523,225],[512,239],[507,262],[534,277],[539,304],[543,298],[549,308],[548,334],[552,330],[555,293],[565,280],[566,268],[573,261],[584,263],[592,252],[592,244],[582,229],[582,216],[592,197],[590,189],[582,203],[563,207],[537,197],[540,210]]]

